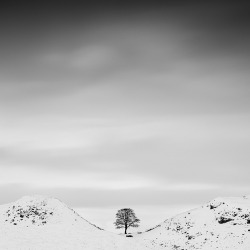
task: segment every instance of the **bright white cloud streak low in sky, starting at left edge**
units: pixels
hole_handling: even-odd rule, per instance
[[[3,169],[2,169],[3,170]],[[112,174],[103,172],[60,171],[42,168],[26,168],[19,165],[4,169],[0,177],[1,184],[27,183],[33,188],[85,188],[97,190],[126,190],[152,186],[152,180],[143,176],[130,174]]]

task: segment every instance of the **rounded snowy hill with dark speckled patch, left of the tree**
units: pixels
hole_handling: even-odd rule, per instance
[[[54,198],[0,206],[0,249],[123,249],[124,237],[90,224]]]

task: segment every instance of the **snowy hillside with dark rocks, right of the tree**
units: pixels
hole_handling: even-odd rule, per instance
[[[139,236],[149,249],[250,249],[250,197],[217,198]]]

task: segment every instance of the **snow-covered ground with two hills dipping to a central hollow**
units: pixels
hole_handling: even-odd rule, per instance
[[[250,250],[250,196],[217,198],[133,237],[107,232],[58,199],[0,206],[0,250]]]

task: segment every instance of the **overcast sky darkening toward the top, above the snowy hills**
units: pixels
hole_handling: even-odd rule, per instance
[[[40,193],[165,219],[174,206],[249,194],[248,10],[3,5],[0,203]]]

